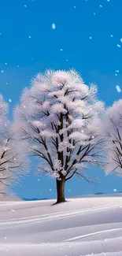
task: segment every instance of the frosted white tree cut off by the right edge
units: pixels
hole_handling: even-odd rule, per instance
[[[102,133],[105,135],[107,156],[105,173],[115,172],[122,176],[122,99],[106,110]]]

